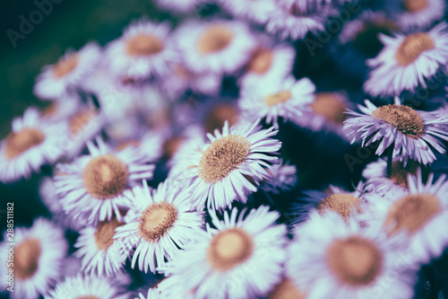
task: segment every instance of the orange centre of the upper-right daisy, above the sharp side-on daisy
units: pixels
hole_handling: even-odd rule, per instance
[[[425,51],[435,48],[433,38],[424,32],[409,34],[395,52],[395,58],[401,66],[408,66]]]

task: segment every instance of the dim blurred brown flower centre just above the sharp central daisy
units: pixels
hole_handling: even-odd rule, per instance
[[[220,103],[215,105],[205,118],[205,129],[213,132],[216,128],[222,128],[226,120],[231,127],[237,123],[238,110],[235,105]]]

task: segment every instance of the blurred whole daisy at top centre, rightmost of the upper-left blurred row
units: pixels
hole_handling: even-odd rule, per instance
[[[244,66],[255,40],[244,22],[185,22],[176,32],[185,66],[194,73],[232,74]]]

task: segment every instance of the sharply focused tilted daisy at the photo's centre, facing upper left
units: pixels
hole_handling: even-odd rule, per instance
[[[278,131],[261,129],[259,120],[228,128],[222,133],[207,134],[210,143],[201,150],[192,150],[189,158],[179,161],[185,171],[178,180],[191,180],[191,204],[202,210],[207,207],[230,207],[234,199],[246,203],[246,195],[255,192],[258,181],[270,179],[271,163],[277,162],[281,142],[271,138]]]

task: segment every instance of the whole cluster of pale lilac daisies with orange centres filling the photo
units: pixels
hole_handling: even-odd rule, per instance
[[[0,181],[40,176],[51,217],[16,227],[0,286],[12,272],[20,299],[423,298],[420,271],[448,247],[444,0],[156,3],[182,22],[67,50],[37,77],[47,108],[13,119]]]

